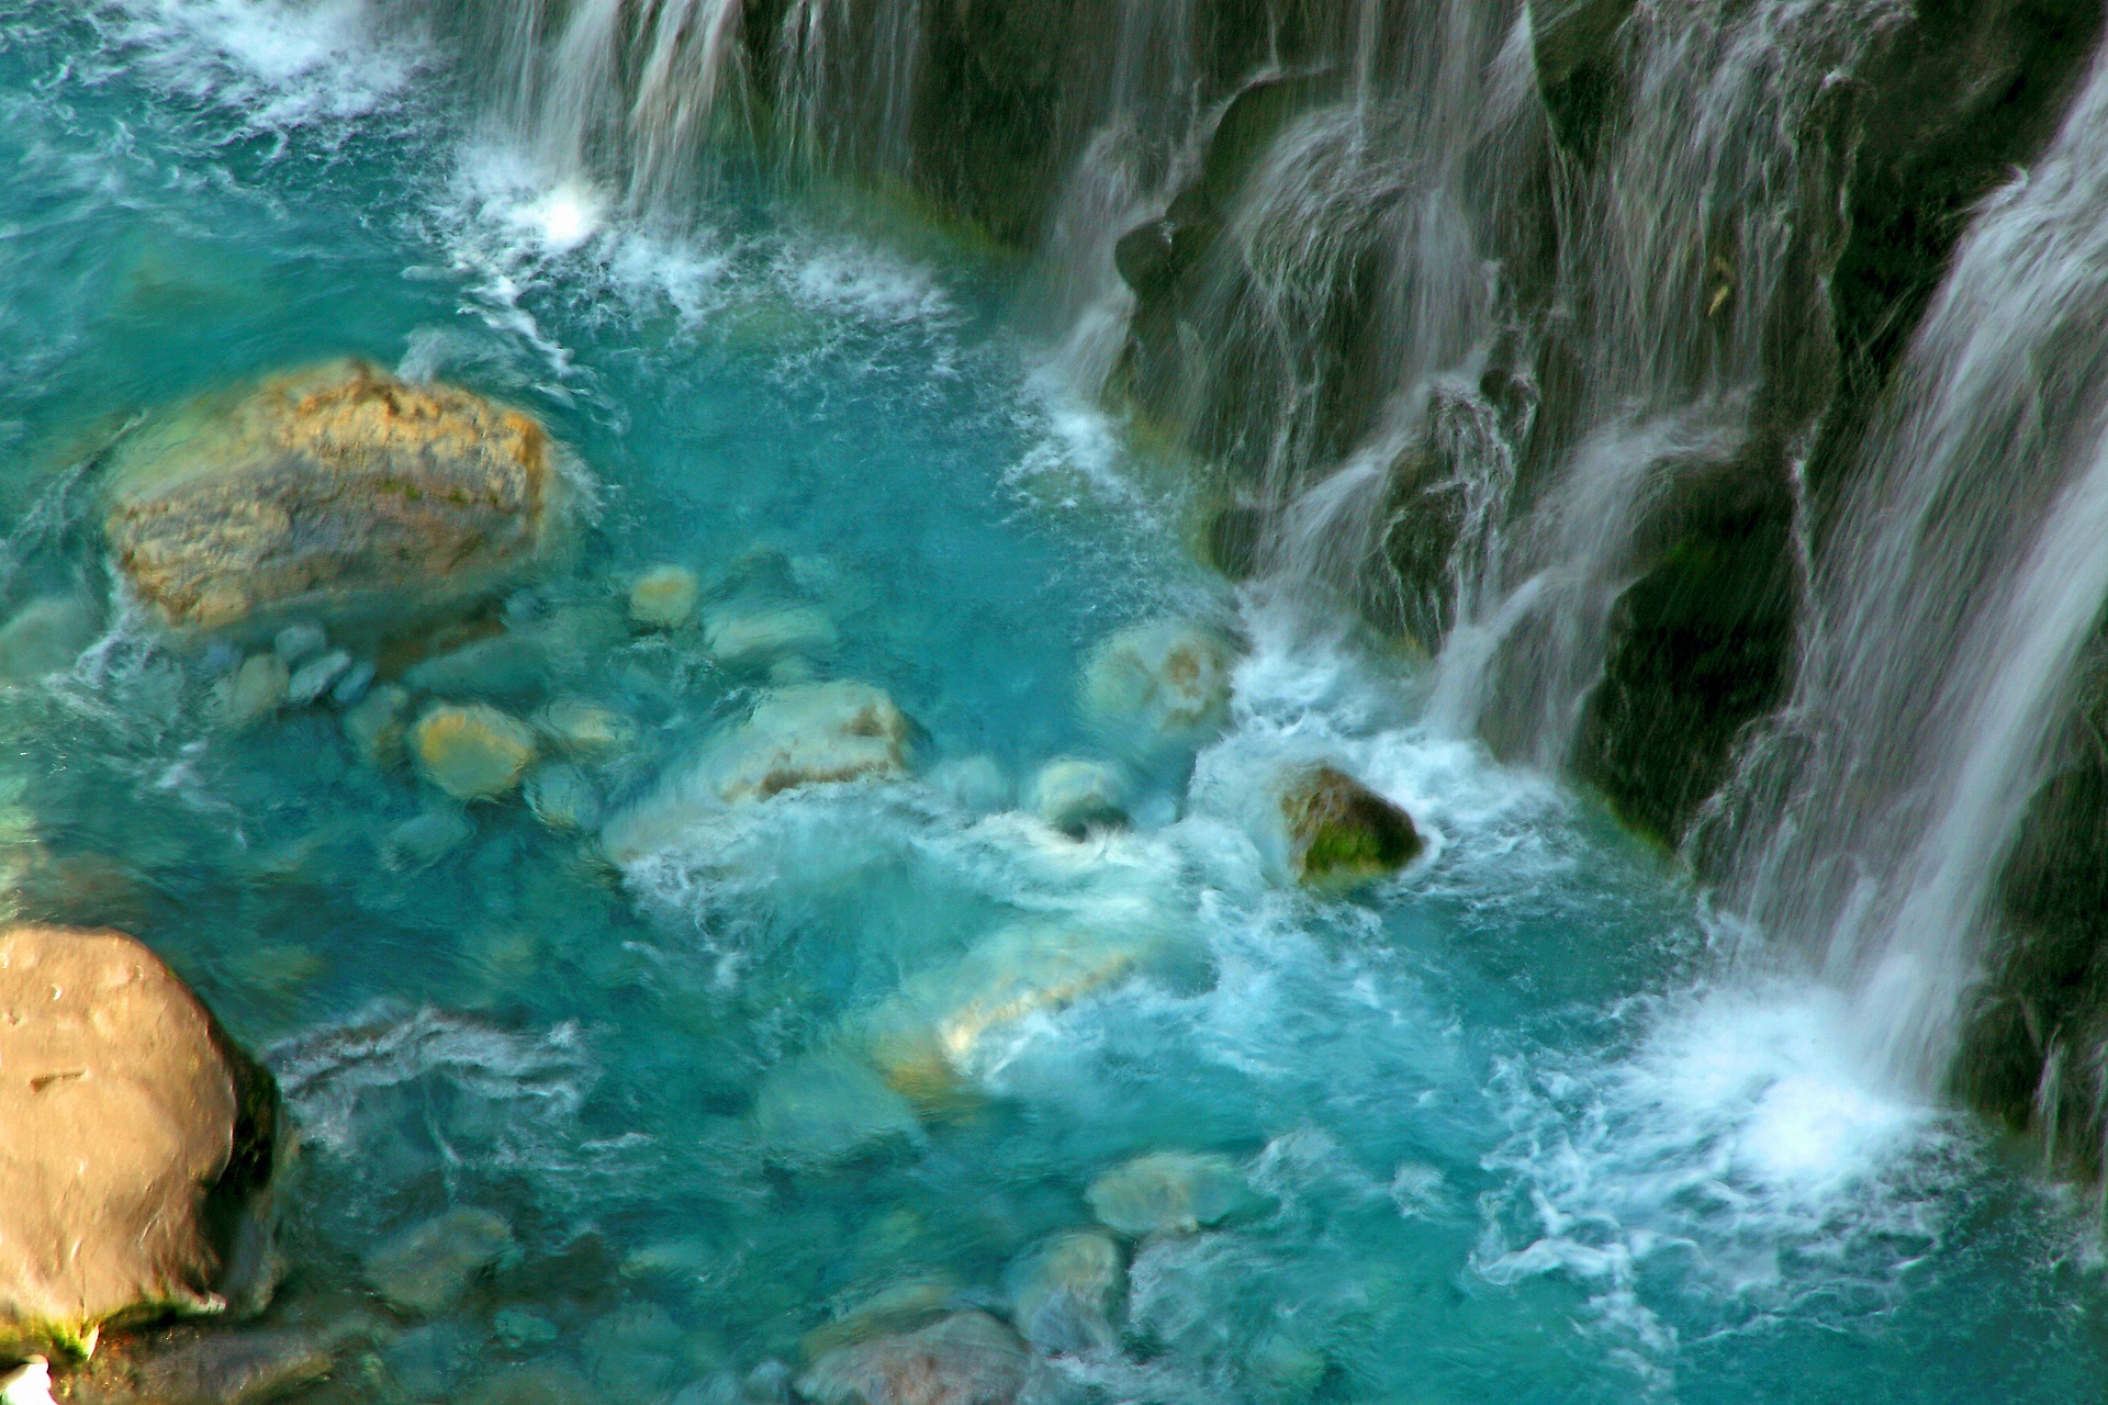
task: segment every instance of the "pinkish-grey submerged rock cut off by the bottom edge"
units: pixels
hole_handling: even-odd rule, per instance
[[[1010,1405],[1031,1357],[987,1312],[955,1312],[898,1335],[839,1346],[797,1380],[816,1405]]]

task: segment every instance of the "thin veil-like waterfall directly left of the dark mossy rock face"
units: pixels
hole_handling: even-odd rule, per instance
[[[1469,581],[1484,605],[1444,651],[1444,725],[1568,765],[1638,525],[1680,472],[1733,461],[1767,428],[1779,320],[1823,316],[1796,270],[1834,204],[1811,128],[1901,17],[1895,0],[1680,0],[1619,29],[1623,128],[1594,169],[1562,173],[1570,447]]]

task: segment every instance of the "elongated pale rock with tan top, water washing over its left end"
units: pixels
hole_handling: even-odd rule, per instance
[[[725,805],[765,800],[801,786],[906,779],[913,727],[866,682],[778,689],[753,716],[719,733],[658,794],[618,815],[601,847],[618,864],[681,838]]]

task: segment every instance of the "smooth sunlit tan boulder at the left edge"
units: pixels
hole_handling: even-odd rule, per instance
[[[118,931],[0,931],[0,1359],[268,1279],[278,1091]]]

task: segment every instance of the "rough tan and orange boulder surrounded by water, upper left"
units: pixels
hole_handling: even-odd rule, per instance
[[[112,459],[103,529],[173,626],[360,624],[516,579],[559,499],[529,415],[337,360],[148,421]]]

